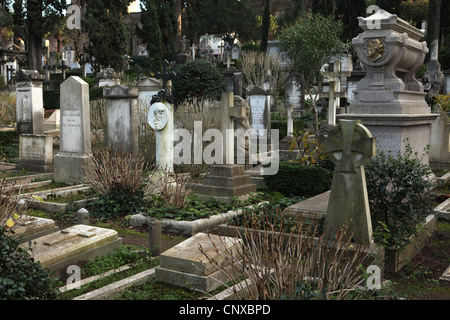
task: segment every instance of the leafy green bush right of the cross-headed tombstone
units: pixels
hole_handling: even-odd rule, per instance
[[[423,158],[423,156],[422,156]],[[433,213],[431,173],[409,144],[404,153],[380,152],[366,165],[367,192],[375,242],[403,248]]]

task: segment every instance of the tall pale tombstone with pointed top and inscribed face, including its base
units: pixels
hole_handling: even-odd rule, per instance
[[[84,183],[83,167],[91,157],[89,85],[72,76],[61,84],[60,147],[55,155],[54,179]]]

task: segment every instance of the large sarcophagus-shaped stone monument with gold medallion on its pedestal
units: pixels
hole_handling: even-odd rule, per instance
[[[379,150],[404,152],[410,143],[422,153],[430,144],[431,122],[437,116],[415,76],[428,52],[420,41],[424,33],[384,10],[358,20],[364,32],[352,43],[366,75],[357,84],[348,113],[337,118],[361,120],[377,138]],[[374,28],[374,21],[379,28]]]

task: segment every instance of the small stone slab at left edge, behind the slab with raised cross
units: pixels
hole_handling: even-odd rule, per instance
[[[28,243],[33,239],[59,231],[55,221],[40,217],[20,216],[12,228],[14,238],[20,243]]]

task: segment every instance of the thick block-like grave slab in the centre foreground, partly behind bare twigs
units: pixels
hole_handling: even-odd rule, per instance
[[[160,266],[156,267],[155,279],[184,288],[210,292],[229,278],[209,261],[199,250],[199,246],[222,267],[229,268],[228,262],[217,253],[215,246],[220,252],[229,255],[226,250],[236,253],[240,243],[241,240],[238,239],[197,233],[160,255]]]

